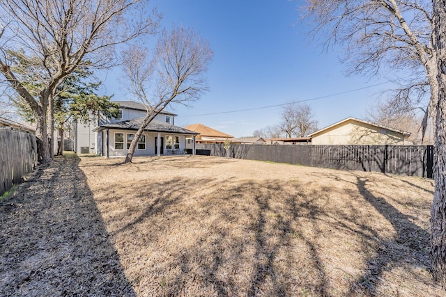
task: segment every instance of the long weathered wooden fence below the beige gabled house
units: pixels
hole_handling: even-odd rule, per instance
[[[223,145],[197,144],[197,154],[226,156]],[[433,177],[432,145],[231,145],[237,159]]]

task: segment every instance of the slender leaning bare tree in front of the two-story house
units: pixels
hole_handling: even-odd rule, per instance
[[[208,89],[203,74],[212,58],[208,42],[192,29],[176,26],[170,33],[162,31],[153,59],[149,60],[147,51],[141,48],[125,52],[123,65],[130,93],[146,106],[147,113],[124,163],[132,161],[139,137],[160,111],[171,103],[187,104],[199,99]]]

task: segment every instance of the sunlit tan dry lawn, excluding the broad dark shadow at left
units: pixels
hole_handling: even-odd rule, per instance
[[[82,157],[137,296],[445,296],[433,181],[207,156]]]

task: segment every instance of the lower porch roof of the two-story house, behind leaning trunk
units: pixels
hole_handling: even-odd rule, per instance
[[[93,131],[102,131],[103,129],[106,129],[106,128],[137,130],[137,129],[139,129],[139,127],[141,127],[143,120],[144,120],[144,117],[141,117],[141,118],[134,118],[131,120],[123,120],[121,122],[114,122],[111,124],[104,124],[104,125],[100,125],[99,127],[96,127],[95,129],[93,129]],[[192,135],[198,134],[197,132],[190,131],[185,128],[181,128],[181,127],[171,125],[166,122],[160,122],[157,120],[152,120],[152,122],[150,122],[147,125],[147,127],[144,129],[144,131],[174,133],[174,134],[192,134]]]

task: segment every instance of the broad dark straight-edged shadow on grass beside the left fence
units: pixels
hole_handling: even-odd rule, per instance
[[[1,296],[135,296],[77,156],[0,201]]]

